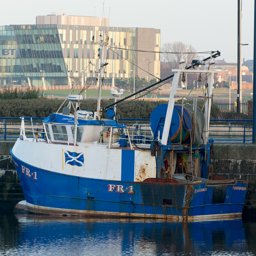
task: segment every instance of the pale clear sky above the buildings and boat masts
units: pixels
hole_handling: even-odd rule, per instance
[[[0,26],[35,24],[35,16],[56,14],[110,17],[113,27],[161,29],[161,46],[181,41],[197,52],[221,52],[237,62],[237,0],[9,0],[1,1]],[[96,8],[95,8],[96,7]],[[242,59],[253,59],[254,1],[242,0]],[[208,55],[200,54],[204,57]]]

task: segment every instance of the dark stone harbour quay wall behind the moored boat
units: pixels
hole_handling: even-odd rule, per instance
[[[14,143],[0,141],[0,210],[13,209],[24,200],[14,163],[8,158]],[[216,176],[249,181],[243,214],[256,216],[256,145],[214,144],[213,153],[210,162]]]

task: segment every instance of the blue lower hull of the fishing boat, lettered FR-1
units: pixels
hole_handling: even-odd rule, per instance
[[[233,217],[242,214],[247,190],[246,181],[209,186],[207,182],[191,185],[83,178],[38,169],[13,154],[12,158],[27,210],[37,214],[174,219]]]

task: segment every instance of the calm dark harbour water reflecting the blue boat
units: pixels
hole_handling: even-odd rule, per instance
[[[0,213],[0,255],[256,255],[256,222],[173,222]]]

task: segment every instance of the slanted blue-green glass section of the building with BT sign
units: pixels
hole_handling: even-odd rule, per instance
[[[67,84],[56,25],[0,26],[0,84]]]

